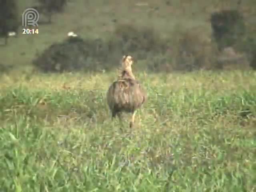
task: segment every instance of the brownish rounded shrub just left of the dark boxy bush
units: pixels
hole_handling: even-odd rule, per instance
[[[174,36],[177,38],[173,51],[174,70],[192,71],[218,67],[216,63],[218,48],[206,34],[205,29],[195,27],[178,31]]]

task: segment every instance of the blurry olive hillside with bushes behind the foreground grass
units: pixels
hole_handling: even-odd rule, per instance
[[[138,68],[153,72],[255,68],[256,11],[249,0],[122,5],[114,0],[29,0],[18,6],[18,15],[31,6],[41,14],[39,34],[21,34],[20,27],[18,38],[10,38],[1,48],[2,64],[17,69],[33,63],[43,71],[99,71],[112,70],[120,55],[132,54]],[[49,14],[50,24],[45,23]],[[70,31],[81,39],[68,40]],[[228,46],[232,54],[223,50]],[[10,61],[12,52],[16,57]]]

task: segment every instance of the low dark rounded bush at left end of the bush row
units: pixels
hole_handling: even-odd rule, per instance
[[[108,60],[107,44],[101,40],[83,40],[79,37],[52,44],[33,64],[44,72],[63,72],[105,69]],[[103,68],[102,68],[103,66]]]

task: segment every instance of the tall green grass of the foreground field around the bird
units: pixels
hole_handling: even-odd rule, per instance
[[[148,101],[122,131],[114,74],[2,76],[1,191],[255,191],[255,72],[136,75]]]

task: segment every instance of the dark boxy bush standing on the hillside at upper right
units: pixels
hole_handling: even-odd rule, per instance
[[[234,46],[245,34],[244,18],[238,10],[221,10],[211,15],[211,26],[218,48]]]

